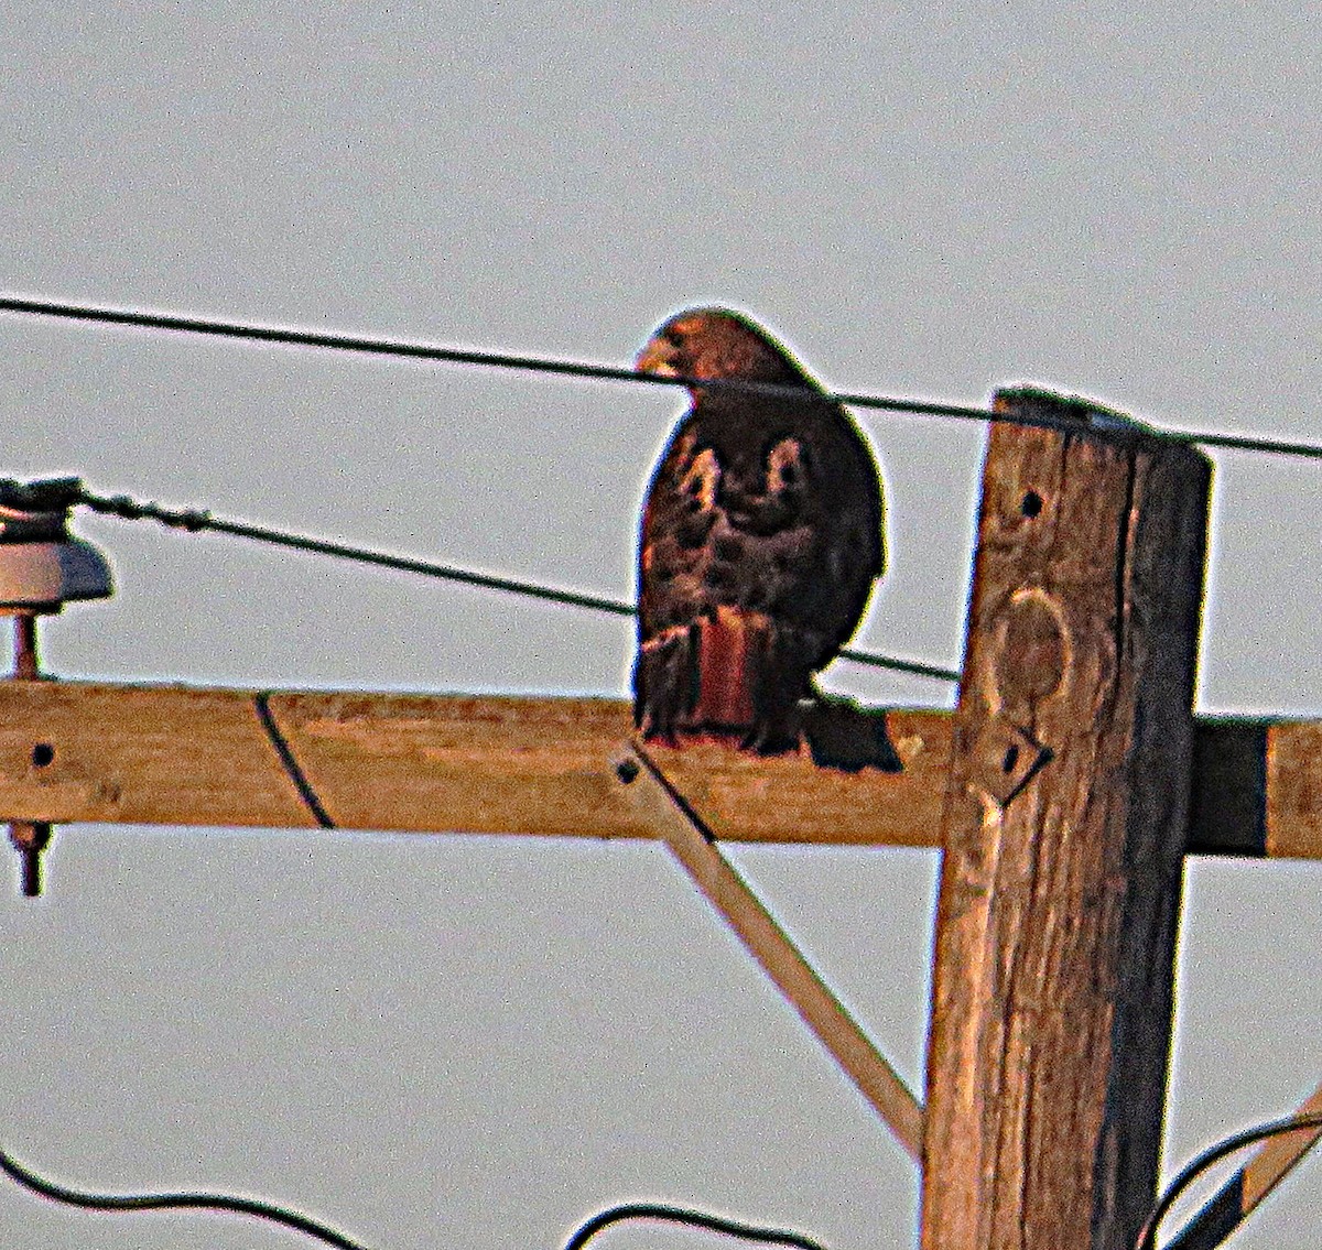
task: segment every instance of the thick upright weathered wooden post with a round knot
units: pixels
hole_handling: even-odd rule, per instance
[[[1210,466],[1002,392],[944,817],[923,1250],[1129,1250],[1154,1198]]]

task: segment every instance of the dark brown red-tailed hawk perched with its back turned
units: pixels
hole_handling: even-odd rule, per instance
[[[849,641],[886,563],[876,464],[849,414],[739,313],[672,317],[636,367],[800,392],[690,387],[642,510],[633,667],[644,737],[792,749],[812,674]]]

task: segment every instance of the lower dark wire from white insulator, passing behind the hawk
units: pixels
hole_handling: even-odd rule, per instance
[[[522,595],[529,599],[542,599],[554,604],[564,604],[571,608],[586,608],[592,612],[608,612],[612,616],[632,617],[637,614],[633,604],[617,599],[605,599],[600,595],[584,595],[578,591],[562,591],[555,587],[539,585],[535,581],[522,581],[514,577],[496,577],[490,573],[477,573],[467,568],[455,568],[449,564],[432,564],[427,560],[412,560],[405,556],[387,555],[382,551],[370,551],[364,547],[349,547],[344,543],[325,542],[320,538],[308,538],[300,534],[288,534],[282,530],[268,530],[262,526],[241,525],[235,521],[221,521],[210,513],[196,509],[168,509],[157,503],[139,503],[127,496],[104,497],[78,488],[73,502],[82,503],[95,513],[104,513],[119,517],[124,521],[157,521],[161,525],[177,530],[186,530],[196,534],[200,530],[210,530],[218,534],[230,534],[237,538],[250,538],[255,542],[272,543],[279,547],[291,547],[295,551],[311,551],[317,555],[336,556],[342,560],[354,560],[360,564],[374,564],[379,568],[394,568],[408,573],[420,573],[426,577],[440,577],[446,581],[459,581],[464,585],[483,587],[489,591],[505,591],[510,595]],[[941,669],[936,665],[924,665],[911,659],[894,659],[888,655],[876,655],[871,651],[855,651],[846,649],[839,653],[842,659],[859,665],[869,665],[874,669],[890,669],[895,673],[910,673],[916,677],[931,677],[943,682],[957,682],[960,673],[953,669]]]

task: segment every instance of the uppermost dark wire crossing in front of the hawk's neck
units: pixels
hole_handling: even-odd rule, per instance
[[[52,300],[29,300],[0,296],[0,312],[25,316],[59,317],[73,321],[95,321],[103,325],[123,325],[135,329],[169,330],[185,334],[206,334],[249,342],[276,344],[290,348],[321,348],[333,351],[356,351],[366,355],[403,357],[449,365],[472,365],[485,369],[516,369],[527,373],[561,374],[574,378],[592,378],[603,382],[631,382],[642,386],[694,386],[709,390],[742,391],[759,395],[792,395],[804,399],[804,391],[765,382],[747,382],[734,378],[698,379],[661,377],[637,373],[613,365],[592,365],[583,361],[549,359],[518,355],[506,351],[479,351],[464,348],[440,348],[432,344],[402,340],[368,338],[354,334],[327,334],[313,330],[288,330],[278,326],[251,325],[238,321],[215,321],[202,317],[180,317],[169,313],[145,313],[128,309],[94,308],[82,304],[61,304]],[[1076,422],[1054,420],[1044,416],[1025,418],[1014,412],[993,412],[969,404],[929,403],[921,399],[896,399],[886,395],[855,394],[851,391],[824,391],[814,398],[825,403],[842,403],[853,408],[875,408],[884,412],[910,412],[916,416],[941,416],[954,420],[990,422],[1015,425],[1040,425],[1048,429],[1077,429]],[[1128,423],[1125,423],[1128,425]],[[1124,427],[1121,427],[1124,428]],[[1220,447],[1228,451],[1265,452],[1277,456],[1301,456],[1322,460],[1322,444],[1290,439],[1263,439],[1248,435],[1211,433],[1186,429],[1157,429],[1147,427],[1150,436],[1173,443],[1199,447]]]

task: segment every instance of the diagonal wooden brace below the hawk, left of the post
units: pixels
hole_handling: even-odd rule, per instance
[[[717,848],[711,830],[637,744],[612,758],[628,801],[726,918],[750,954],[804,1017],[863,1097],[915,1158],[923,1154],[923,1107],[812,965]]]

